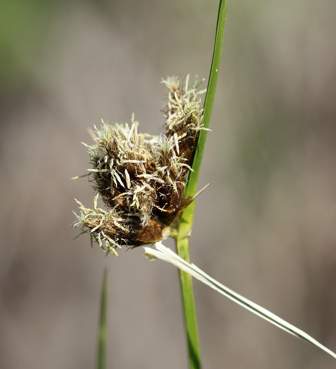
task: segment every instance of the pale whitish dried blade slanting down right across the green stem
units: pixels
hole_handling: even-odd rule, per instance
[[[207,284],[214,290],[228,297],[230,300],[234,301],[235,303],[239,304],[242,307],[245,307],[245,309],[269,321],[270,323],[276,325],[282,330],[294,335],[295,337],[301,338],[304,341],[309,342],[310,344],[322,349],[323,351],[325,351],[326,353],[328,353],[329,355],[333,356],[336,359],[335,352],[332,352],[331,350],[320,344],[318,341],[316,341],[316,339],[312,338],[310,335],[308,335],[301,329],[295,327],[294,325],[287,323],[285,320],[266,310],[262,306],[253,303],[252,301],[232,291],[228,287],[223,286],[223,284],[217,282],[217,280],[211,278],[209,275],[204,273],[203,270],[197,268],[196,265],[190,264],[186,262],[184,259],[180,258],[177,254],[175,254],[174,251],[162,245],[161,242],[157,242],[155,244],[155,247],[156,250],[151,249],[149,247],[144,247],[145,255],[150,259],[161,259],[177,266],[180,270],[183,270],[190,276],[193,276],[194,278]]]

